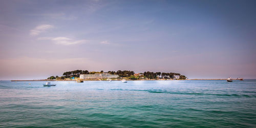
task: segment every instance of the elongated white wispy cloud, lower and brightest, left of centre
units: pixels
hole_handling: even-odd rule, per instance
[[[51,40],[57,45],[76,45],[76,44],[82,44],[85,43],[87,40],[75,40],[68,37],[39,37],[38,40]]]

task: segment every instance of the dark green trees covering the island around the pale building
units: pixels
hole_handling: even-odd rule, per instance
[[[50,76],[48,79],[65,79],[65,78],[70,78],[70,77],[79,77],[80,74],[95,74],[95,73],[104,73],[104,71],[100,72],[89,72],[88,70],[74,70],[74,71],[69,71],[69,72],[64,72],[63,76],[61,77],[54,77]],[[135,74],[134,71],[108,71],[109,74],[112,75],[118,75],[120,77],[127,77],[130,79],[158,79],[158,78],[163,78],[163,79],[172,79],[176,76],[179,76],[179,79],[186,79],[187,77],[184,75],[181,75],[180,73],[161,73],[161,72],[144,72],[144,73],[138,73]]]

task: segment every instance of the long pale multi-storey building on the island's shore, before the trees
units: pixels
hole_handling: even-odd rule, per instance
[[[81,74],[80,79],[102,79],[102,78],[117,78],[118,75],[109,73]]]

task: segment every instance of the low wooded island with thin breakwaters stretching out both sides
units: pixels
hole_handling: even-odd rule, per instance
[[[113,76],[116,77],[81,77],[80,75],[86,75],[86,76],[92,76],[92,75],[107,75],[107,76]],[[103,76],[103,75],[102,75]],[[50,76],[46,79],[33,79],[33,80],[11,80],[11,81],[76,81],[76,80],[84,80],[84,81],[98,81],[98,80],[226,80],[226,78],[223,79],[188,79],[185,75],[181,75],[180,73],[164,73],[164,72],[144,72],[144,73],[134,73],[134,71],[100,71],[100,72],[89,72],[88,70],[74,70],[74,71],[68,71],[64,72],[62,76]],[[233,79],[233,80],[239,80]]]

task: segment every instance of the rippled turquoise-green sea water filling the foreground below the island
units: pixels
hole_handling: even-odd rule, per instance
[[[44,83],[0,81],[0,127],[256,127],[256,80]]]

